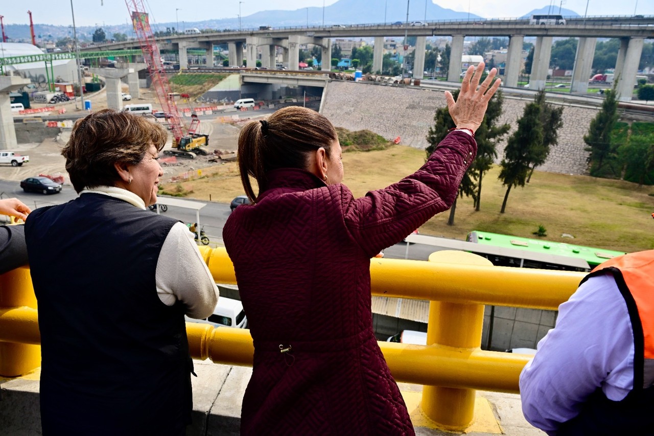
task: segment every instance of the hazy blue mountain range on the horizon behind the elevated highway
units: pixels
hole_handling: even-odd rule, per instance
[[[438,0],[437,0],[438,1]],[[241,17],[240,27],[242,29],[258,28],[259,26],[290,27],[290,26],[333,26],[334,24],[376,24],[394,23],[407,21],[407,9],[404,2],[393,0],[381,1],[371,0],[339,0],[333,5],[322,7],[308,7],[296,10],[266,10],[256,12],[249,16]],[[559,7],[545,6],[541,9],[534,9],[524,17],[533,14],[559,14]],[[501,16],[515,16],[511,11],[499,12]],[[560,9],[563,16],[579,16],[574,10]],[[452,9],[445,9],[435,5],[431,1],[422,3],[419,1],[409,2],[408,21],[439,21],[439,20],[468,20],[482,18],[468,12],[456,12]],[[501,17],[485,17],[501,18]],[[175,22],[153,23],[152,28],[157,31],[165,31],[167,27],[174,28]],[[198,29],[239,29],[239,18],[221,18],[215,20],[203,20],[196,22],[179,22],[179,30],[198,27]],[[133,35],[133,30],[128,24],[115,24],[103,26],[107,38],[114,33],[125,33]],[[56,41],[63,37],[73,37],[73,29],[70,26],[52,26],[49,24],[35,24],[34,31],[37,35],[37,42],[41,40]],[[77,36],[80,41],[90,41],[95,31],[94,26],[77,27]],[[5,26],[5,33],[14,42],[29,42],[29,26],[26,24],[9,24]]]

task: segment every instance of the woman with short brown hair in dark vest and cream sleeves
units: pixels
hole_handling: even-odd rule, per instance
[[[167,132],[99,111],[61,151],[75,200],[26,221],[39,304],[44,435],[183,435],[192,397],[184,314],[218,291],[184,223],[148,211]]]

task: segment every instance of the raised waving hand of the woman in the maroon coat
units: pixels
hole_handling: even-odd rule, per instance
[[[452,93],[445,91],[447,109],[456,124],[456,128],[468,128],[475,132],[484,119],[490,98],[500,87],[500,79],[497,79],[490,86],[497,74],[497,69],[493,68],[490,70],[488,77],[479,85],[479,90],[477,90],[477,84],[479,84],[479,78],[484,72],[484,67],[483,62],[480,62],[476,68],[473,65],[468,67],[456,102]]]

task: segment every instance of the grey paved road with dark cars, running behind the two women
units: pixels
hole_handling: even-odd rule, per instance
[[[23,192],[17,181],[0,179],[0,197],[16,197],[32,209],[43,208],[44,206],[53,206],[63,204],[77,197],[73,187],[65,185],[60,193],[44,195],[35,192]],[[211,246],[222,246],[222,227],[224,227],[227,218],[230,216],[230,205],[216,202],[201,202],[206,204],[200,210],[200,225],[204,227]],[[184,223],[193,223],[196,221],[196,213],[192,209],[176,208],[169,206],[163,215],[179,219]],[[437,251],[438,247],[423,244],[410,244],[404,242],[388,247],[384,250],[387,259],[413,259],[426,261],[431,253]]]

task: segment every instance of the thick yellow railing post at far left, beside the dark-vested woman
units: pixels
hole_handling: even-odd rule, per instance
[[[16,268],[0,275],[0,308],[37,308],[29,268]],[[9,332],[7,332],[9,333]],[[0,375],[15,377],[41,365],[41,346],[0,342]]]

